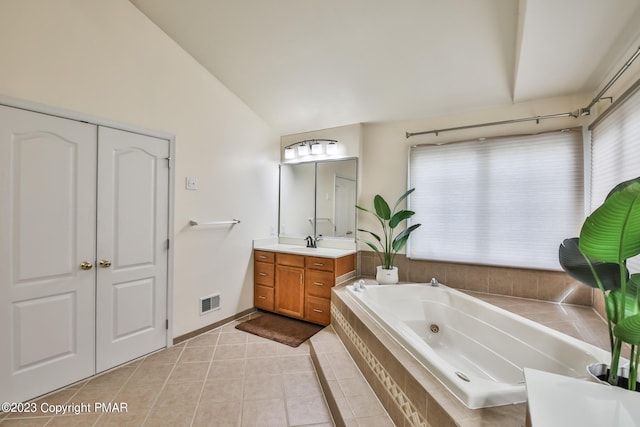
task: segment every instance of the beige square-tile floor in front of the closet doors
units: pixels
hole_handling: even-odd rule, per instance
[[[308,342],[289,347],[239,331],[236,323],[37,401],[38,408],[89,403],[90,412],[0,414],[0,425],[333,426]],[[93,410],[94,402],[110,401],[126,402],[128,411]]]

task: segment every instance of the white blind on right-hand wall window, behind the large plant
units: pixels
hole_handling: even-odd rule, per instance
[[[640,90],[637,88],[591,129],[591,190],[593,212],[617,184],[640,176]],[[628,263],[640,271],[640,259]]]

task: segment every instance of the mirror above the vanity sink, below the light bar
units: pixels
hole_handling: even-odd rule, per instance
[[[280,165],[281,237],[355,240],[357,160]]]

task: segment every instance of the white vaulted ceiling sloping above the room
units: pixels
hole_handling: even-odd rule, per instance
[[[598,89],[640,0],[131,0],[281,134]]]

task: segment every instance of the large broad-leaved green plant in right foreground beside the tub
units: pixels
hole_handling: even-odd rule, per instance
[[[640,274],[629,274],[627,260],[640,254],[640,177],[618,184],[589,215],[580,237],[560,245],[562,268],[587,286],[600,289],[611,345],[607,381],[621,384],[622,344],[630,346],[628,389],[636,389],[640,345]],[[597,375],[597,374],[596,374]]]

